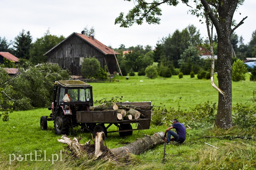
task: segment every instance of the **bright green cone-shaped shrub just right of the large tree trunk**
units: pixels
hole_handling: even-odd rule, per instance
[[[245,80],[245,73],[247,73],[247,67],[244,62],[240,59],[236,60],[232,68],[232,81]]]

